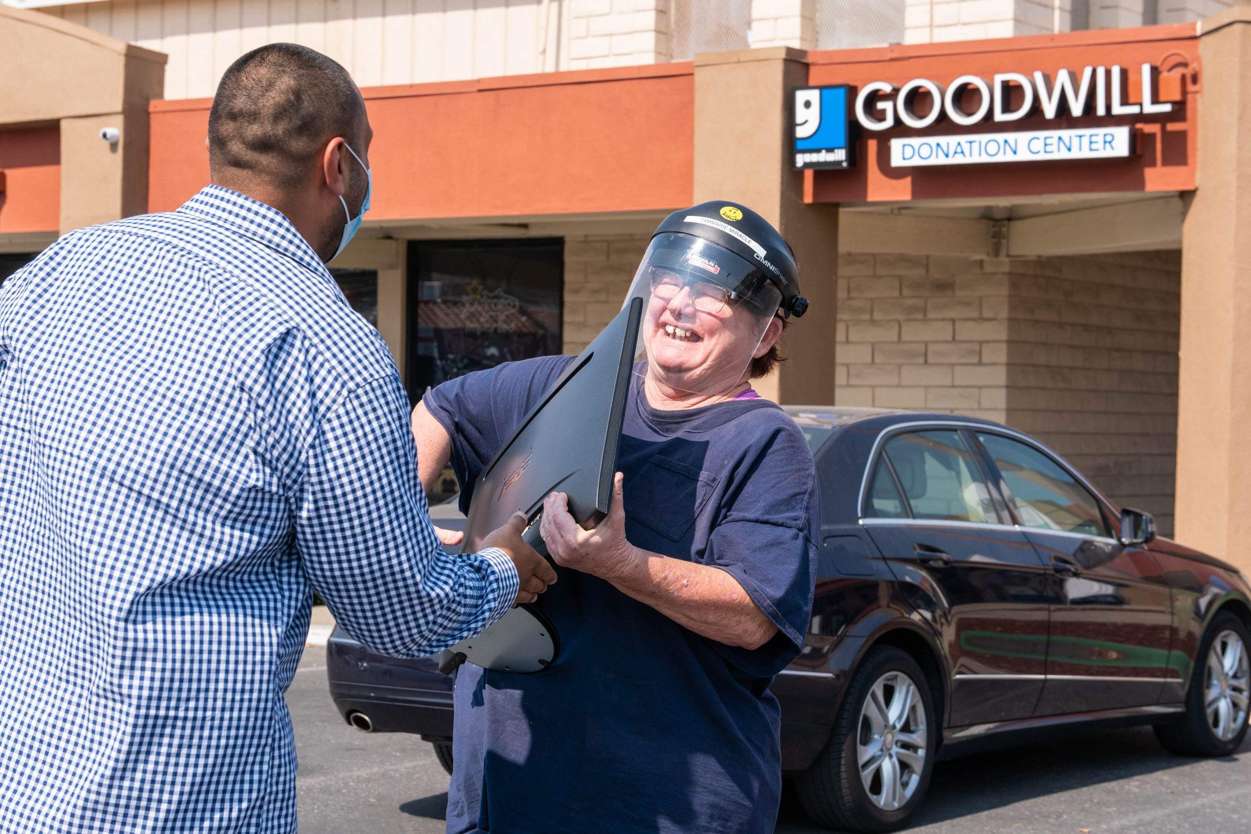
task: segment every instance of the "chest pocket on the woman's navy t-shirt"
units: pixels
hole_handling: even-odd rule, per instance
[[[653,455],[626,484],[626,515],[673,541],[682,540],[717,488],[717,476]]]

